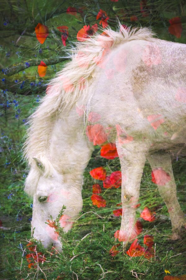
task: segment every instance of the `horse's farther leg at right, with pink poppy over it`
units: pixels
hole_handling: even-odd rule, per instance
[[[151,165],[152,170],[154,170],[153,173],[159,193],[166,203],[167,209],[170,214],[173,231],[172,239],[179,239],[181,237],[182,229],[184,228],[184,226],[186,226],[186,220],[176,196],[176,184],[172,171],[170,155],[167,153],[159,152],[149,155],[147,159]]]

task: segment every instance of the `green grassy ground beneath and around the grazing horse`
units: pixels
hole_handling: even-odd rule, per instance
[[[140,203],[137,217],[143,224],[139,235],[139,243],[143,244],[144,235],[154,237],[153,257],[129,257],[122,248],[122,242],[117,250],[119,254],[112,257],[109,250],[118,244],[114,233],[120,228],[121,216],[113,215],[121,202],[121,188],[103,189],[102,196],[106,200],[105,208],[92,205],[92,184],[95,184],[89,171],[98,166],[104,166],[110,172],[119,170],[118,158],[106,160],[100,157],[97,147],[87,166],[82,191],[83,209],[81,217],[75,222],[73,229],[62,235],[63,252],[50,254],[41,244],[37,252],[44,254],[45,261],[38,266],[29,268],[27,254],[33,252],[26,246],[30,239],[30,220],[32,217],[32,199],[23,191],[26,177],[25,166],[21,161],[21,147],[25,132],[25,118],[37,105],[37,98],[14,97],[16,102],[7,96],[10,107],[2,108],[1,130],[1,185],[0,185],[0,279],[163,279],[168,270],[172,275],[186,274],[184,261],[184,242],[172,242],[171,224],[167,208],[159,196],[157,186],[151,181],[151,170],[145,165],[141,181]],[[28,100],[27,100],[28,99]],[[18,104],[18,106],[15,106]],[[17,107],[20,116],[16,118]],[[186,159],[180,157],[173,160],[173,170],[178,189],[178,198],[185,211],[185,175]],[[96,183],[98,181],[96,180]],[[99,182],[100,185],[102,182]],[[156,212],[154,222],[140,218],[140,212],[147,206]],[[128,248],[130,245],[128,245]],[[33,253],[35,254],[35,253]]]

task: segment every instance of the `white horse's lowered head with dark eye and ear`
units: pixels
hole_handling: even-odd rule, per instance
[[[54,244],[61,251],[58,229],[53,221],[64,205],[66,209],[59,222],[64,231],[71,229],[82,210],[82,176],[59,174],[55,169],[46,175],[45,163],[36,158],[34,161],[25,182],[25,191],[33,196],[32,235],[41,240],[44,247]]]

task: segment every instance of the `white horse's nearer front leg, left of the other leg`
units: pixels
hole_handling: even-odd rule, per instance
[[[146,141],[131,141],[126,144],[117,141],[122,170],[122,222],[118,240],[125,243],[132,241],[138,235],[135,221],[136,204],[139,200],[141,176],[148,148],[149,143]]]

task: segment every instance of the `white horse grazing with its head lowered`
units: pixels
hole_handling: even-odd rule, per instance
[[[78,43],[30,117],[25,191],[33,196],[33,236],[61,249],[55,227],[46,222],[65,205],[60,223],[64,231],[72,227],[82,210],[83,171],[93,141],[103,139],[116,143],[121,163],[119,241],[137,235],[135,205],[146,159],[169,210],[172,238],[179,238],[186,223],[168,152],[185,145],[185,120],[186,45],[121,25],[118,32],[107,29]],[[95,124],[100,128],[93,132]]]

